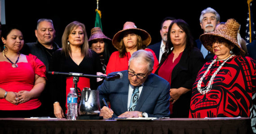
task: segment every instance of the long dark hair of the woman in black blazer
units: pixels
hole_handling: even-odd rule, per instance
[[[162,55],[160,64],[162,64],[165,61],[165,59],[167,59],[168,55],[171,54],[172,50],[173,50],[173,49],[171,50],[171,48],[173,47],[173,44],[172,44],[171,38],[170,38],[171,28],[172,28],[173,24],[177,24],[185,32],[185,34],[186,34],[186,46],[185,47],[188,49],[189,53],[194,46],[194,38],[190,32],[189,25],[182,19],[173,20],[168,29],[167,42],[165,45],[165,52]]]

